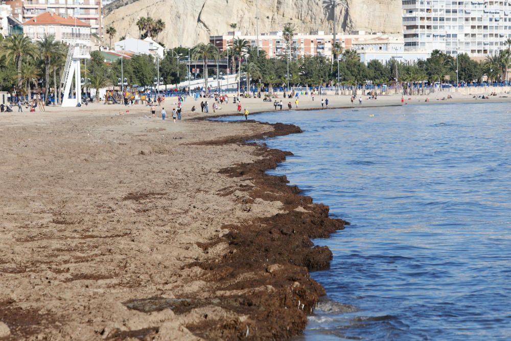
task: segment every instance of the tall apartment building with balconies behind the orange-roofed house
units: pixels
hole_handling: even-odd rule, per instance
[[[102,0],[6,0],[13,16],[27,21],[44,12],[61,17],[73,16],[90,25],[92,33],[101,34]]]

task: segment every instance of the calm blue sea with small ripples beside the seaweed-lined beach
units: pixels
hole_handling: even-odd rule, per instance
[[[509,111],[452,104],[251,117],[305,131],[266,141],[295,154],[271,173],[352,223],[314,241],[334,260],[312,274],[328,297],[299,339],[511,339]]]

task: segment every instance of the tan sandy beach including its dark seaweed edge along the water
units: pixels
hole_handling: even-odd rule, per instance
[[[442,97],[428,104],[511,100]],[[363,98],[363,107],[401,105],[401,96]],[[351,107],[349,97],[329,100]],[[174,101],[163,105],[169,116]],[[303,331],[324,294],[309,271],[328,268],[332,255],[311,238],[346,222],[285,177],[264,174],[286,152],[244,142],[299,127],[197,120],[236,113],[233,103],[214,113],[210,100],[205,115],[199,104],[188,99],[175,124],[142,105],[0,114],[0,339]],[[299,99],[299,109],[319,107],[318,97]],[[242,108],[273,104],[243,99]]]

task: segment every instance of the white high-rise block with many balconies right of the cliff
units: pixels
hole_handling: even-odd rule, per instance
[[[403,0],[405,51],[498,53],[511,38],[511,0]]]

